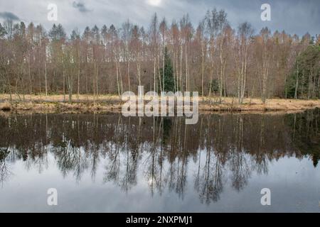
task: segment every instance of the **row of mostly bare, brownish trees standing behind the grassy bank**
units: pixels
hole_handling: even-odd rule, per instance
[[[61,24],[0,23],[0,89],[6,94],[121,95],[143,85],[156,92],[202,96],[318,99],[320,35],[301,38],[250,23],[232,28],[224,10],[198,26],[188,15],[169,23],[156,13],[148,28],[129,20],[74,29]],[[166,69],[169,65],[169,69]],[[170,73],[170,76],[166,74]],[[170,84],[168,87],[167,84]]]

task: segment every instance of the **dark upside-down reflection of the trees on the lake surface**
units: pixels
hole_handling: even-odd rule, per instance
[[[240,192],[252,174],[267,175],[272,160],[310,157],[316,167],[319,114],[213,114],[196,125],[118,114],[1,116],[0,182],[10,181],[11,166],[21,160],[26,171],[47,170],[52,155],[63,177],[77,182],[85,172],[95,182],[103,166],[103,182],[122,192],[147,184],[151,195],[169,190],[183,199],[186,185],[193,184],[201,203],[210,204],[219,201],[228,181]]]

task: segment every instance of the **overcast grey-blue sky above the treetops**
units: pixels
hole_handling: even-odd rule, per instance
[[[272,21],[262,21],[260,9],[263,3],[271,6]],[[58,6],[58,21],[48,21],[48,4]],[[120,26],[129,19],[132,23],[149,28],[154,12],[168,22],[188,13],[193,26],[197,26],[208,9],[225,9],[231,26],[252,23],[255,31],[268,26],[272,31],[287,31],[303,35],[320,33],[319,0],[0,0],[0,22],[6,18],[25,23],[41,23],[47,29],[55,23],[62,23],[70,33],[73,28],[82,32],[85,26],[101,28],[113,23]]]

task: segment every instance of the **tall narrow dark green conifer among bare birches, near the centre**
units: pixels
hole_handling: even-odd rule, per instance
[[[164,69],[160,69],[160,74],[164,77],[164,92],[174,92],[174,68],[167,48],[164,48]]]

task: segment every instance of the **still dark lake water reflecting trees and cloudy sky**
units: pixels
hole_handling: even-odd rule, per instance
[[[0,116],[0,211],[319,212],[320,110]],[[47,191],[58,191],[48,206]],[[262,206],[261,189],[271,191]]]

